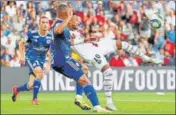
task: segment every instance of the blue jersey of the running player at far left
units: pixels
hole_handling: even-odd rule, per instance
[[[38,30],[29,31],[27,34],[26,58],[30,60],[46,59],[46,53],[52,43],[52,34],[48,32],[46,36],[40,35]]]

